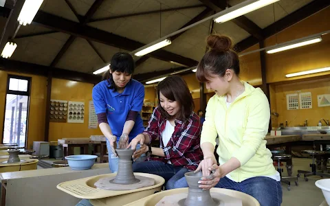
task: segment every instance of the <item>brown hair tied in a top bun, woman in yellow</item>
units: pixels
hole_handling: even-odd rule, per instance
[[[239,56],[232,49],[230,37],[211,34],[206,42],[210,50],[197,65],[196,77],[199,82],[207,82],[212,74],[222,77],[227,69],[233,69],[239,76]]]

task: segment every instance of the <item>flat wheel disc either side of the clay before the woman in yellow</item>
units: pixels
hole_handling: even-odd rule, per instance
[[[242,200],[225,194],[211,192],[212,199],[217,206],[242,206]],[[155,206],[184,206],[188,193],[164,196]]]

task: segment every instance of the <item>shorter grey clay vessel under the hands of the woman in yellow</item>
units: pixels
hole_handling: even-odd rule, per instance
[[[201,179],[201,176],[203,176],[202,172],[187,172],[184,174],[186,176],[186,181],[189,185],[188,188],[188,196],[186,198],[186,201],[184,201],[184,205],[194,205],[194,206],[202,206],[202,205],[208,205],[208,206],[215,206],[218,205],[211,197],[210,190],[203,191],[201,188],[199,188],[198,181]]]

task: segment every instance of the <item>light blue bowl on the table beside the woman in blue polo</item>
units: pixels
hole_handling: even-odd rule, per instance
[[[94,165],[96,155],[70,155],[65,157],[72,170],[88,170]]]

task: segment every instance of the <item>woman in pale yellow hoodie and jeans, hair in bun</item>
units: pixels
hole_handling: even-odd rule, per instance
[[[281,179],[265,141],[270,122],[267,97],[260,88],[239,80],[239,56],[229,37],[210,35],[207,43],[210,49],[196,75],[216,95],[208,101],[201,131],[203,161],[197,170],[202,170],[203,177],[199,187],[244,192],[261,206],[281,205]],[[217,135],[219,166],[214,157]]]

